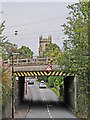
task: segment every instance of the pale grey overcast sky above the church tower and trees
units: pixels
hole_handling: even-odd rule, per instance
[[[13,1],[13,0],[12,0]],[[20,1],[20,0],[19,0]],[[27,1],[27,0],[26,0]],[[35,0],[34,0],[35,1]],[[44,0],[42,0],[44,1]],[[18,47],[29,47],[38,55],[39,36],[52,36],[52,42],[63,48],[65,38],[62,24],[66,23],[68,4],[73,2],[2,2],[2,21],[5,21],[4,35]],[[18,35],[15,35],[18,31]]]

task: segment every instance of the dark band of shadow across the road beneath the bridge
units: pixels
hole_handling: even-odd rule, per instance
[[[68,110],[70,111],[70,109],[68,109],[68,107],[64,104],[63,101],[41,101],[41,100],[38,100],[38,101],[32,101],[32,100],[28,100],[28,99],[24,99],[20,106],[21,109],[26,109],[26,107],[28,107],[29,109],[30,108],[34,108],[34,109],[44,109],[46,107],[49,107],[49,108],[55,108],[55,109],[62,109],[62,110]]]

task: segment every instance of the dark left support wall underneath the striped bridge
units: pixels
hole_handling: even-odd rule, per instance
[[[24,82],[25,82],[25,77],[19,77],[19,100],[20,100],[20,103],[23,102],[23,98],[24,98]]]

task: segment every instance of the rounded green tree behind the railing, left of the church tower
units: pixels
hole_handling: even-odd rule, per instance
[[[18,49],[18,52],[19,53],[23,53],[22,56],[33,56],[33,51],[31,51],[31,49],[29,47],[26,47],[26,46],[22,46],[21,48]]]

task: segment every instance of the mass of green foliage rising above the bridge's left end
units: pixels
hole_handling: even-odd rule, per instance
[[[32,56],[33,52],[31,51],[31,49],[29,47],[26,46],[22,46],[21,48],[18,49],[18,46],[16,44],[12,44],[7,40],[7,37],[5,37],[3,35],[3,31],[5,29],[5,22],[3,22],[0,25],[0,56],[2,56],[2,59],[7,59],[8,57],[10,57],[11,53],[23,53],[22,57],[26,56]],[[6,55],[7,54],[7,55]],[[17,55],[15,55],[14,57],[17,57]]]

